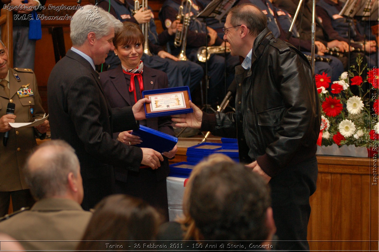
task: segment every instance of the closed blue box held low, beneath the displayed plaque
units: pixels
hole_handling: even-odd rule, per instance
[[[178,138],[162,133],[158,130],[153,130],[149,127],[139,125],[138,130],[133,130],[132,135],[141,137],[140,144],[135,144],[136,147],[150,148],[159,153],[172,150],[178,142]]]

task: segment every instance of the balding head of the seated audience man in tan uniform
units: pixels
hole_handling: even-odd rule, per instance
[[[75,150],[62,140],[47,141],[28,158],[25,179],[36,200],[83,200],[83,182]]]

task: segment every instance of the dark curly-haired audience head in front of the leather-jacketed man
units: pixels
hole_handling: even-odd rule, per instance
[[[203,238],[210,241],[256,241],[260,245],[276,231],[268,186],[242,164],[203,167],[192,181],[189,214]]]

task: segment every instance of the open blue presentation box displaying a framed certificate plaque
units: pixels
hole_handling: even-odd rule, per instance
[[[146,90],[142,91],[142,97],[151,100],[145,103],[146,118],[193,113],[188,86]]]

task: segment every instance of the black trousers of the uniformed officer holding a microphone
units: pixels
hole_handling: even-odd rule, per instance
[[[8,213],[11,196],[14,212],[20,210],[22,207],[32,207],[35,202],[29,189],[12,192],[0,192],[0,217]]]

